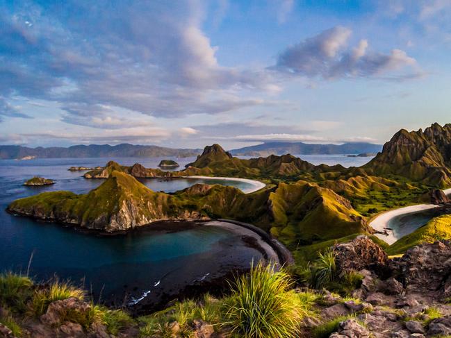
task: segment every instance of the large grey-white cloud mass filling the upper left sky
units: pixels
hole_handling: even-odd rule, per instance
[[[202,10],[196,1],[0,5],[0,94],[156,117],[263,104],[259,92],[278,89],[270,72],[220,66]],[[81,124],[77,116],[63,119]]]

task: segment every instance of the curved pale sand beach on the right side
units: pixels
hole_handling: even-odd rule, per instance
[[[451,194],[451,188],[450,189],[443,189],[443,192],[445,195]],[[388,210],[386,212],[382,212],[382,214],[377,215],[372,221],[370,221],[369,226],[377,231],[383,232],[388,227],[388,223],[393,219],[393,217],[397,217],[404,214],[414,214],[416,212],[421,212],[425,210],[432,210],[435,208],[440,208],[440,205],[434,205],[434,204],[416,204],[416,205],[410,205],[408,207],[403,208],[397,208],[395,210]],[[395,243],[397,240],[401,239],[397,238],[393,231],[388,230],[388,235],[384,235],[382,233],[376,233],[376,237],[379,239],[382,239],[387,244],[391,245]]]

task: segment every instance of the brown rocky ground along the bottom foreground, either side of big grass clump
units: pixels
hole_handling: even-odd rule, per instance
[[[299,322],[297,337],[450,337],[451,242],[422,244],[402,257],[390,259],[381,247],[361,236],[337,244],[334,254],[338,273],[345,276],[358,271],[363,276],[361,286],[350,296],[338,296],[325,289],[308,290],[313,305]],[[307,294],[306,289],[296,291]],[[168,321],[151,326],[155,330],[149,329],[149,323],[158,315],[124,319],[122,325],[112,330],[110,321],[89,319],[94,305],[77,298],[55,301],[38,318],[27,318],[24,314],[25,318],[17,322],[22,326],[23,337],[231,337],[232,328],[214,322],[216,316],[195,311],[206,308],[205,299],[188,303],[192,313],[199,314],[184,323],[174,321],[171,316],[177,314],[177,306],[183,307],[183,303],[163,311]],[[208,302],[211,306],[221,300]],[[68,316],[74,312],[79,316]],[[10,314],[6,307],[0,309],[0,318]],[[81,325],[77,318],[89,320]],[[0,324],[0,337],[13,337],[5,324]]]

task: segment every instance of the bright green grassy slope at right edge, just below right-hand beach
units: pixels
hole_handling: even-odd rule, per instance
[[[413,233],[398,239],[386,252],[388,255],[397,255],[418,244],[433,243],[441,239],[451,239],[451,215],[431,219]]]

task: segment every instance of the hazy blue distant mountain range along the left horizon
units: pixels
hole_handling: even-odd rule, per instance
[[[158,158],[177,157],[188,158],[202,153],[202,149],[172,149],[162,146],[138,146],[133,144],[90,144],[49,148],[28,148],[26,146],[0,146],[0,159],[31,159],[31,158]]]

